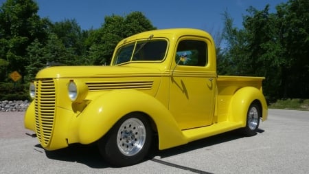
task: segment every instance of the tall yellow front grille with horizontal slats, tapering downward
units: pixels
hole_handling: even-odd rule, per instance
[[[45,79],[36,82],[35,118],[36,136],[41,145],[47,146],[52,136],[56,91],[54,80]]]

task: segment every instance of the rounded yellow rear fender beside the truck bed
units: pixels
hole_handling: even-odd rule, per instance
[[[231,98],[229,105],[229,121],[242,122],[242,127],[246,126],[247,111],[251,103],[255,100],[260,102],[262,107],[262,120],[267,119],[267,104],[262,91],[255,87],[243,87],[238,89]]]

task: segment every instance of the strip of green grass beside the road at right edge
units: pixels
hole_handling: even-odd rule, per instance
[[[309,99],[285,99],[277,100],[268,106],[269,109],[294,109],[301,111],[309,111]]]

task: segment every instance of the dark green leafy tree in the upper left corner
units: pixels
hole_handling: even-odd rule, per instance
[[[37,12],[38,6],[32,0],[8,0],[0,7],[0,58],[6,73],[16,70],[25,74],[28,45],[47,37],[48,20],[40,19]]]

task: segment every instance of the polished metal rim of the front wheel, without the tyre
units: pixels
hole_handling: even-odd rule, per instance
[[[117,132],[117,146],[126,156],[133,156],[141,149],[146,141],[146,128],[137,118],[125,120]]]

